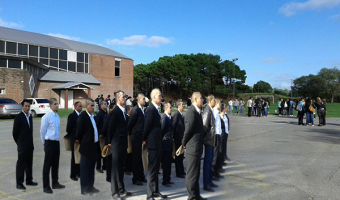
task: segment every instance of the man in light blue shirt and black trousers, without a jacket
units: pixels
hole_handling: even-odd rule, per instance
[[[59,157],[60,157],[60,118],[58,112],[58,101],[55,98],[49,99],[51,111],[41,118],[40,136],[44,144],[45,159],[43,167],[44,192],[52,194],[50,187],[50,169],[52,168],[52,188],[65,188],[58,182]]]

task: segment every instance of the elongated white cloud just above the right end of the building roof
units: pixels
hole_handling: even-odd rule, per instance
[[[162,44],[169,44],[171,42],[172,39],[170,38],[165,38],[161,36],[151,36],[148,38],[146,35],[132,35],[129,37],[124,37],[122,40],[120,39],[107,40],[107,44],[109,45],[147,46],[147,47],[159,47]]]

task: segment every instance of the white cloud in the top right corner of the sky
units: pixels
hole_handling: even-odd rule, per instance
[[[330,9],[340,5],[340,0],[308,0],[304,3],[291,2],[283,5],[279,13],[290,17],[298,11]]]

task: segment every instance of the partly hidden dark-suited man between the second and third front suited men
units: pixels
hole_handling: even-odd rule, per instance
[[[99,112],[96,115],[96,124],[97,124],[97,129],[98,129],[98,134],[99,134],[99,139],[100,138],[105,138],[105,135],[103,134],[103,127],[104,127],[104,119],[108,115],[107,114],[107,102],[111,102],[110,95],[108,95],[106,101],[101,101],[100,102],[100,109]],[[104,173],[103,170],[106,170],[106,159],[103,158],[102,152],[100,149],[100,145],[98,145],[98,151],[97,151],[97,159],[96,159],[96,171],[98,173]],[[103,164],[102,164],[103,161]]]

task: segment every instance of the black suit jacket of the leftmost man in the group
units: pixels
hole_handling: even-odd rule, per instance
[[[20,112],[14,119],[13,138],[18,145],[18,151],[29,151],[34,149],[33,145],[33,123],[32,116],[29,117],[30,125],[23,112]]]

